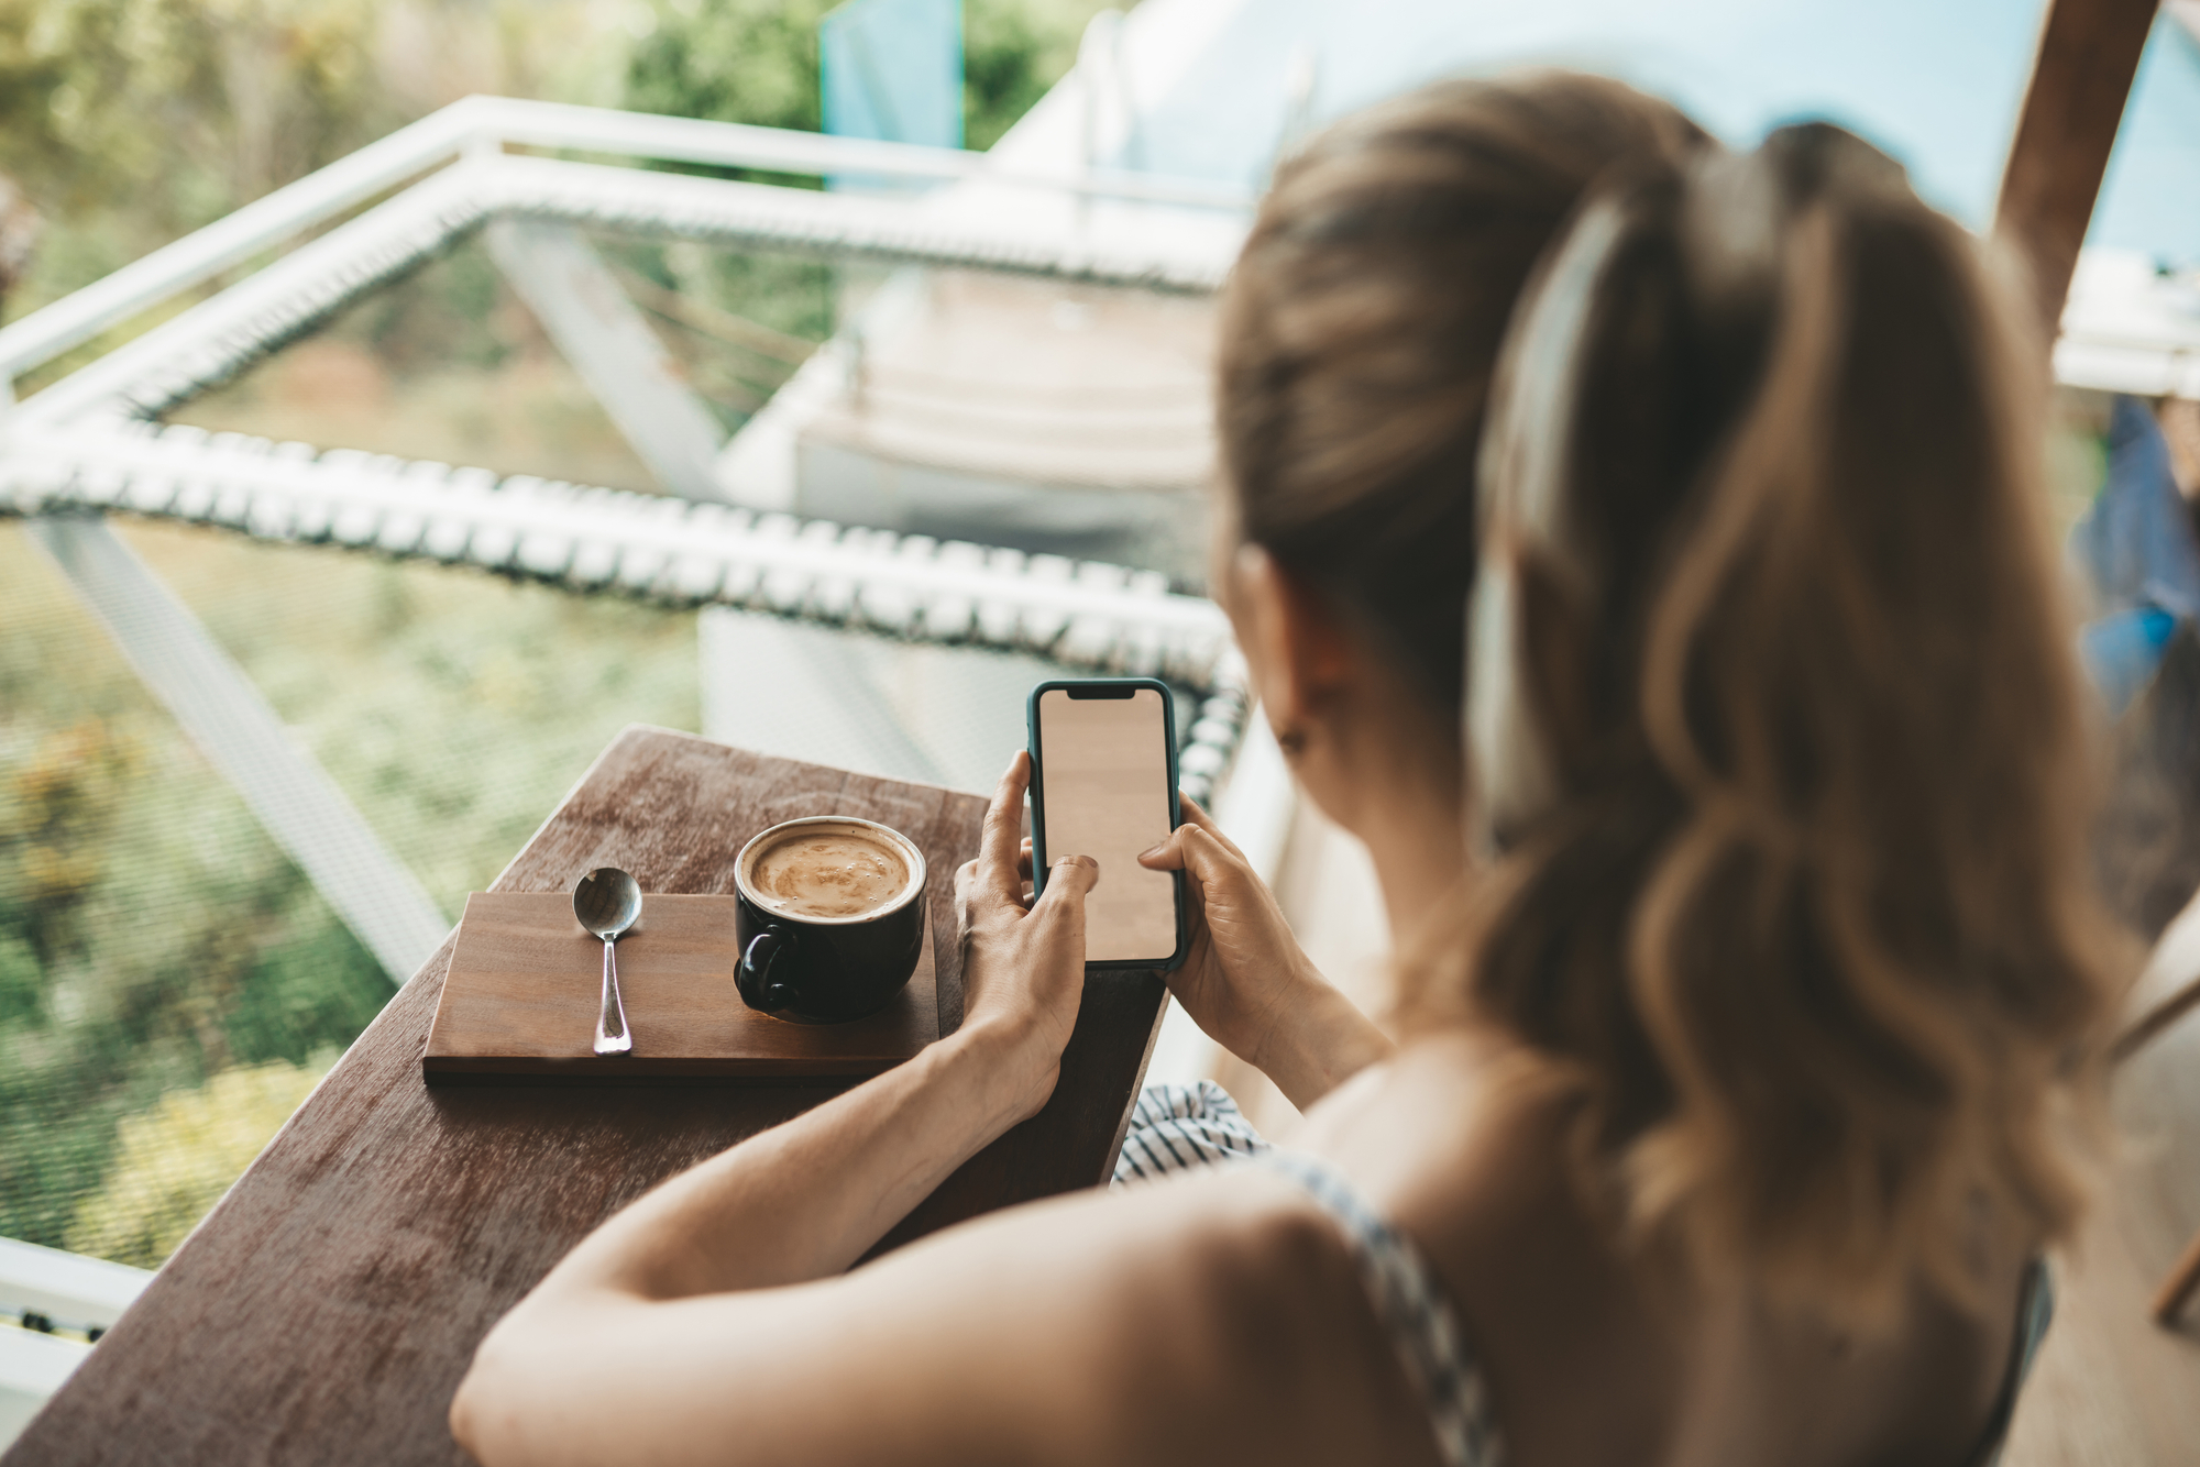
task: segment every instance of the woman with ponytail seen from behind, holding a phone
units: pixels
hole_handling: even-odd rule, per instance
[[[1107,873],[1025,908],[1019,757],[959,875],[961,1029],[587,1238],[482,1344],[460,1441],[1984,1460],[2105,972],[2006,319],[1830,130],[1734,158],[1531,77],[1322,136],[1225,299],[1214,585],[1375,856],[1404,1045],[1190,809],[1142,858],[1201,902],[1173,988],[1307,1108],[1298,1150],[847,1273],[1045,1102],[1076,1018]]]

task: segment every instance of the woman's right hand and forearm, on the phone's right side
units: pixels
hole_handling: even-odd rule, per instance
[[[1184,823],[1137,858],[1186,875],[1190,950],[1168,988],[1214,1043],[1307,1108],[1393,1045],[1313,968],[1245,853],[1179,798]]]

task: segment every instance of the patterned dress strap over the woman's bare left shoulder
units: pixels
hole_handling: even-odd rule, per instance
[[[1329,1163],[1289,1150],[1269,1150],[1261,1161],[1298,1181],[1344,1229],[1368,1300],[1390,1333],[1406,1377],[1428,1403],[1430,1430],[1448,1467],[1498,1467],[1505,1449],[1489,1421],[1483,1372],[1421,1249],[1384,1223]]]

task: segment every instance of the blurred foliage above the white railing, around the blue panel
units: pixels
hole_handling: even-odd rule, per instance
[[[0,0],[0,174],[55,299],[466,92],[818,128],[827,0]],[[1098,0],[966,0],[966,136],[1076,59]],[[623,81],[620,81],[623,77]]]

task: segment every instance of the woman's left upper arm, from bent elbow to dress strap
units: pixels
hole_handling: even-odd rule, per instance
[[[803,1284],[535,1304],[451,1412],[486,1467],[1432,1463],[1342,1236],[1274,1172],[1012,1207]]]

